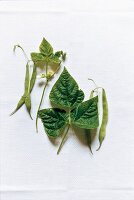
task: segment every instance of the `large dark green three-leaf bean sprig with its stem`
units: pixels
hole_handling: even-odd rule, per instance
[[[95,97],[92,96],[89,100],[83,102],[84,93],[79,89],[78,84],[66,68],[64,68],[59,79],[53,86],[49,99],[53,108],[43,109],[38,112],[47,135],[57,138],[67,126],[67,131],[63,136],[57,153],[62,148],[70,126],[76,126],[86,130],[98,128],[98,95]],[[104,121],[102,123],[103,127]],[[100,132],[102,137],[102,130]],[[101,141],[100,143],[102,143]]]

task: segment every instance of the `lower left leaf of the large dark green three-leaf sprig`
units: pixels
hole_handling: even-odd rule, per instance
[[[67,113],[58,108],[40,110],[38,116],[42,120],[47,135],[50,137],[58,137],[68,122]]]

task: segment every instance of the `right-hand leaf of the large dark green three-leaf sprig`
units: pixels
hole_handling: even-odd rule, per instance
[[[71,112],[71,123],[79,128],[97,128],[99,126],[98,96],[79,104]]]

